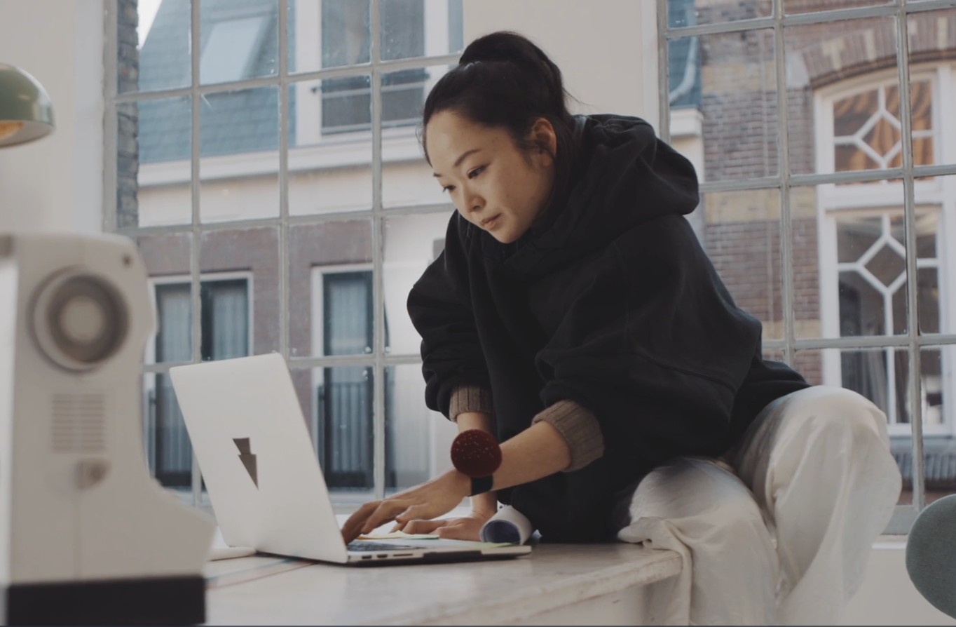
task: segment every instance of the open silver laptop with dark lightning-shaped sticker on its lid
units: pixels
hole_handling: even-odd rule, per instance
[[[524,555],[454,540],[345,545],[281,355],[169,369],[209,500],[230,547],[350,565]]]

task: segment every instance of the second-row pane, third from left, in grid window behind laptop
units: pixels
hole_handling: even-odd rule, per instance
[[[367,77],[362,79],[367,80]],[[369,92],[365,90],[350,96],[342,93],[347,90],[323,91],[322,82],[304,80],[289,85],[289,213],[305,215],[371,210]],[[336,84],[334,81],[325,82]],[[365,117],[357,115],[356,110],[350,111],[349,102],[359,106],[359,113],[364,110]],[[329,104],[329,110],[323,107],[325,103]],[[341,115],[345,114],[351,119],[343,120]],[[364,130],[337,133],[342,126],[336,126],[336,123],[355,122],[357,118],[361,118],[359,126]],[[326,120],[333,125],[324,126]]]

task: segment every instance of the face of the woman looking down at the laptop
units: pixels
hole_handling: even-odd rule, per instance
[[[554,184],[554,127],[541,118],[528,139],[548,149],[522,150],[506,129],[448,110],[425,127],[435,178],[458,212],[505,244],[528,231]]]

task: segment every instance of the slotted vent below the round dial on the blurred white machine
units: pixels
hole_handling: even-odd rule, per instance
[[[101,393],[54,394],[54,453],[106,450],[106,398]]]

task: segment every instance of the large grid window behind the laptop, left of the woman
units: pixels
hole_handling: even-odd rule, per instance
[[[462,1],[107,5],[104,226],[138,242],[156,297],[157,479],[205,498],[168,369],[272,351],[337,504],[443,472],[454,425],[424,407],[405,299],[453,211],[416,126],[462,50]]]

